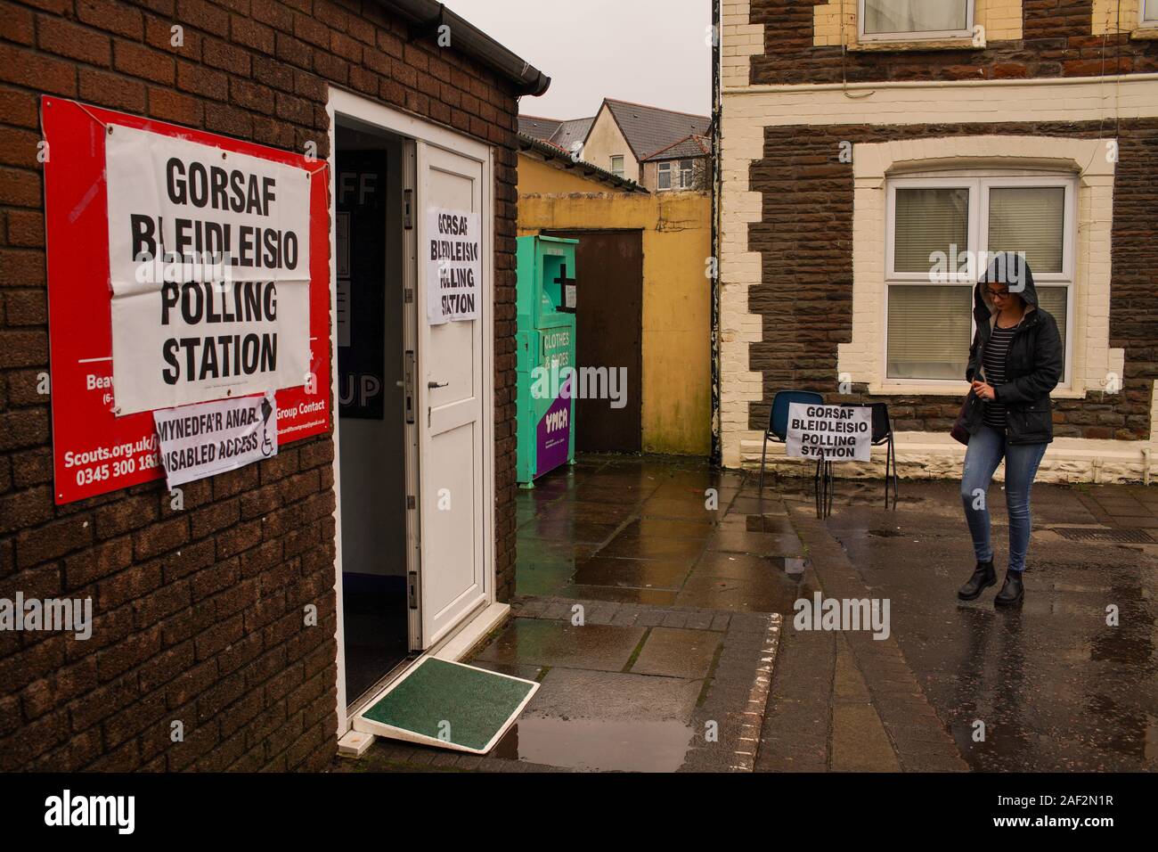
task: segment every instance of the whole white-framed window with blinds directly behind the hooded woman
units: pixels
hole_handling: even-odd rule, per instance
[[[1040,306],[1057,320],[1071,376],[1077,182],[1068,175],[937,175],[888,182],[885,383],[960,383],[973,292],[988,256],[1025,253]]]

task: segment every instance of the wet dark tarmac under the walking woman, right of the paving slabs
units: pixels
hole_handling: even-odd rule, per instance
[[[849,502],[872,490],[850,488]],[[968,766],[1158,769],[1158,545],[1058,532],[1153,529],[1158,490],[1035,486],[1026,599],[1010,611],[994,607],[996,589],[970,603],[954,597],[973,568],[955,485],[910,483],[903,493],[896,512],[846,504],[826,526],[871,596],[891,598],[906,661]],[[990,502],[1003,520],[999,488]],[[1001,576],[1006,531],[995,523]]]

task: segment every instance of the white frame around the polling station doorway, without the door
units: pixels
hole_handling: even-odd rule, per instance
[[[396,133],[402,137],[422,140],[428,145],[446,148],[463,156],[478,160],[483,166],[483,217],[484,230],[490,239],[483,241],[483,287],[482,304],[483,316],[481,326],[483,332],[483,505],[482,523],[486,546],[483,549],[483,581],[485,583],[486,604],[494,603],[496,581],[496,541],[494,541],[494,163],[492,151],[477,139],[457,133],[448,128],[433,124],[417,116],[402,112],[390,107],[386,107],[378,101],[373,101],[360,95],[356,95],[344,89],[330,87],[329,101],[325,111],[330,118],[330,380],[334,387],[338,381],[338,336],[335,327],[337,318],[337,235],[332,226],[334,212],[336,207],[337,179],[336,179],[336,134],[335,117],[340,114],[364,122],[381,130]],[[416,198],[415,216],[420,216],[423,199]],[[425,311],[419,306],[419,322],[424,321]],[[419,366],[418,376],[422,374]],[[416,410],[422,412],[425,405],[425,387],[416,379]],[[335,396],[336,399],[336,396]],[[337,712],[338,712],[338,737],[342,737],[351,729],[352,719],[347,716],[346,709],[346,675],[345,675],[345,640],[344,620],[342,616],[342,443],[340,428],[337,406],[330,413],[334,421],[334,496],[336,510],[335,516],[335,559],[334,559],[334,589],[335,603],[337,606]],[[419,459],[419,465],[422,459]],[[417,495],[416,495],[417,496]],[[420,500],[419,500],[420,505]],[[424,566],[425,569],[425,566]],[[483,607],[485,610],[485,607]],[[478,611],[467,613],[463,624]],[[459,625],[460,627],[462,625]],[[428,647],[428,639],[424,638]]]

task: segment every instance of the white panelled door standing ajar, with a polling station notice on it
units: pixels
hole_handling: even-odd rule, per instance
[[[484,323],[478,319],[431,326],[426,319],[427,269],[423,256],[426,211],[435,207],[481,213],[482,245],[493,239],[483,210],[483,163],[418,143],[418,415],[423,645],[430,648],[468,612],[486,600],[484,527]],[[483,277],[490,275],[483,263]],[[489,292],[479,282],[479,293]]]

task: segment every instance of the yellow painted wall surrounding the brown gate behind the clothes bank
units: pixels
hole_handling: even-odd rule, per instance
[[[557,175],[554,182],[548,173]],[[585,190],[574,188],[577,181]],[[614,192],[520,155],[519,235],[544,228],[643,230],[644,452],[708,456],[711,279],[704,272],[711,199],[698,192]]]

